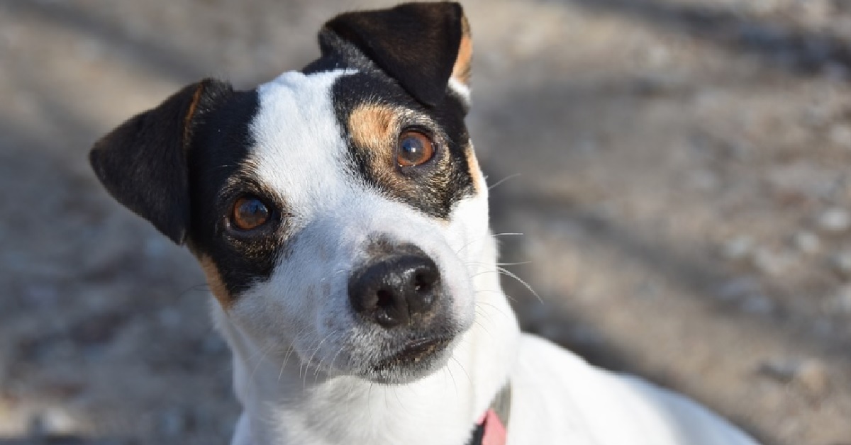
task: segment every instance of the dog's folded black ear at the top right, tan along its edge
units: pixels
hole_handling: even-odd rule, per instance
[[[340,14],[319,33],[323,54],[335,49],[328,33],[354,44],[427,106],[443,99],[450,76],[468,94],[472,41],[458,3],[404,3]]]

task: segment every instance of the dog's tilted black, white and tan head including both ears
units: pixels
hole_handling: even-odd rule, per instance
[[[267,356],[430,374],[474,317],[487,187],[457,3],[342,14],[322,56],[248,91],[203,80],[94,145],[118,202],[186,243]]]

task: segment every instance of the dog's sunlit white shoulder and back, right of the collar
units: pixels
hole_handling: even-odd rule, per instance
[[[524,334],[511,374],[517,398],[510,434],[569,443],[752,444],[688,397],[629,374],[597,368],[571,351]],[[517,421],[515,421],[517,420]]]

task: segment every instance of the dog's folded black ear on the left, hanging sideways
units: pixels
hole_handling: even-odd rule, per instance
[[[229,83],[192,83],[130,118],[94,144],[89,162],[119,203],[177,244],[189,226],[188,150],[204,115],[233,92]]]

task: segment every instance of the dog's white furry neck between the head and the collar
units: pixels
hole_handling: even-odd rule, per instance
[[[488,239],[473,274],[476,321],[447,365],[409,385],[380,385],[305,368],[297,357],[269,360],[219,305],[214,319],[233,352],[243,404],[234,444],[465,443],[508,378],[517,319],[500,288]],[[489,273],[492,271],[492,273]]]

